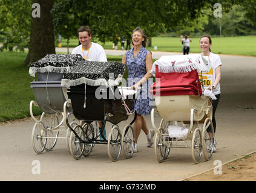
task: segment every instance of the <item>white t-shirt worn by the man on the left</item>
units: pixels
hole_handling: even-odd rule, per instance
[[[80,54],[82,55],[82,57],[84,57],[84,59],[86,59],[88,50],[87,51],[84,50],[84,54],[83,54],[82,45],[79,45],[73,49],[71,54]],[[107,62],[107,56],[102,46],[99,45],[98,43],[91,42],[91,48],[90,48],[87,60],[92,60],[96,62]]]

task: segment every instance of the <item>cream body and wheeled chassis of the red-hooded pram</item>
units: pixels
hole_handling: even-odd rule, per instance
[[[176,95],[156,96],[157,109],[151,110],[151,123],[157,131],[155,154],[158,162],[167,159],[171,147],[191,148],[192,159],[199,163],[203,156],[211,159],[213,150],[212,106],[208,96]],[[202,100],[201,104],[199,101]],[[169,104],[166,101],[169,101]],[[181,102],[182,101],[182,102]],[[159,127],[154,123],[154,116],[162,117]],[[206,128],[211,124],[210,131]],[[186,125],[189,130],[185,138],[170,139],[168,125]],[[191,141],[191,142],[189,142]]]

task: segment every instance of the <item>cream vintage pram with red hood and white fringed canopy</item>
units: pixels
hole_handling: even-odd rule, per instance
[[[195,163],[200,162],[202,154],[206,160],[212,157],[212,100],[203,95],[206,91],[197,73],[208,63],[200,54],[163,56],[154,62],[151,73],[156,83],[151,94],[156,109],[151,110],[151,122],[157,131],[155,153],[159,162],[167,159],[173,147],[191,148]],[[156,126],[158,113],[162,120]]]

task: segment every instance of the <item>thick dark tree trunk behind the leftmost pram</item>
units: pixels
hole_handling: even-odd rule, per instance
[[[30,66],[47,54],[55,54],[53,18],[50,13],[54,0],[33,0],[33,3],[40,5],[40,17],[32,16],[31,19],[30,44],[27,58],[22,64],[24,66]]]

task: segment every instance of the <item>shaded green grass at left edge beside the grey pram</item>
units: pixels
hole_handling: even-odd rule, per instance
[[[28,74],[28,67],[21,66],[26,55],[0,52],[0,121],[30,116],[29,103],[34,100],[30,82],[34,77]]]

